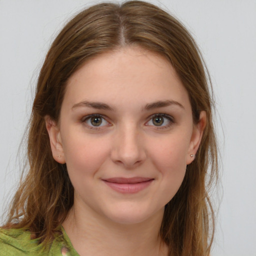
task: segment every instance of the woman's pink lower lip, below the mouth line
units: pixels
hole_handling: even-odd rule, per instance
[[[120,193],[137,193],[151,184],[153,179],[138,183],[113,183],[103,180],[105,184]]]

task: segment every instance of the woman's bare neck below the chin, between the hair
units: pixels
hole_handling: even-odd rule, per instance
[[[167,255],[159,235],[162,216],[163,210],[143,222],[123,224],[73,205],[62,226],[80,256],[160,256]]]

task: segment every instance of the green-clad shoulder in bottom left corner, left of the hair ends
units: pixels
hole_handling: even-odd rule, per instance
[[[40,252],[40,253],[39,253]],[[42,251],[37,239],[31,239],[31,233],[22,229],[0,228],[0,256],[48,255]]]

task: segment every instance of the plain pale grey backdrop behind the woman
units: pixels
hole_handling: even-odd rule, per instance
[[[0,214],[19,179],[17,150],[50,42],[67,18],[96,2],[0,0]],[[256,1],[150,2],[189,29],[212,78],[223,194],[212,256],[256,256]]]

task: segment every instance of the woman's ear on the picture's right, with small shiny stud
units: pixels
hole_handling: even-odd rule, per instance
[[[189,164],[193,161],[196,151],[200,145],[205,126],[206,126],[206,112],[201,111],[199,116],[199,121],[193,125],[193,131],[192,131],[189,148],[186,156],[186,164]]]

